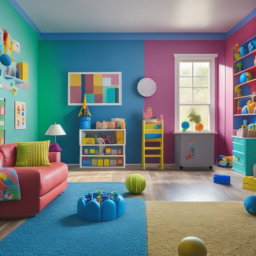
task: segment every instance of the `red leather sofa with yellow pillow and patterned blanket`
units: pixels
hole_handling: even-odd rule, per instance
[[[0,218],[21,218],[38,214],[68,186],[68,166],[60,152],[49,152],[51,166],[14,167],[17,143],[0,145],[0,167],[13,168],[19,179],[21,200],[0,201]]]

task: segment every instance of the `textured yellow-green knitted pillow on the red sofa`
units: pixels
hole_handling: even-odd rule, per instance
[[[50,166],[48,159],[50,140],[17,142],[15,166]]]

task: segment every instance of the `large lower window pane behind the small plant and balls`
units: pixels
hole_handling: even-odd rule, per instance
[[[209,106],[193,106],[193,108],[195,109],[195,112],[198,113],[201,116],[201,123],[204,126],[203,130],[209,130]],[[180,106],[180,130],[182,130],[181,128],[181,123],[183,121],[188,121],[188,115],[191,111],[191,106]],[[195,123],[189,122],[189,128],[187,129],[187,131],[195,131]]]

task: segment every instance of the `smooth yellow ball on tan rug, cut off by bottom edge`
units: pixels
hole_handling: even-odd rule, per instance
[[[194,236],[182,239],[178,245],[179,256],[206,256],[207,249],[204,242]]]

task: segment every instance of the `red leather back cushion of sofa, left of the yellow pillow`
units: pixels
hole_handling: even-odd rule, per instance
[[[2,167],[13,167],[16,163],[17,143],[9,143],[0,145],[0,151],[3,154]]]

